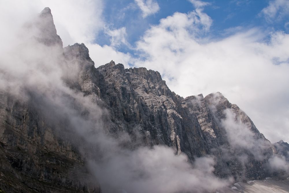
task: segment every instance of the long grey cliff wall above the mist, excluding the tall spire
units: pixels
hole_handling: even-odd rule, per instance
[[[113,61],[95,69],[84,44],[64,50],[65,56],[73,56],[70,60],[83,69],[77,83],[81,91],[108,109],[111,123],[108,130],[116,136],[118,132],[126,132],[134,139],[134,145],[167,145],[175,148],[176,153],[185,153],[191,161],[194,156],[214,155],[217,161],[215,173],[221,177],[251,180],[269,175],[265,164],[268,157],[277,152],[275,146],[236,104],[231,104],[221,93],[184,99],[172,92],[156,71],[125,69]],[[82,59],[80,55],[83,55]],[[84,79],[80,78],[83,74]],[[256,141],[252,146],[262,144],[262,155],[230,144],[230,136],[223,124],[226,109],[234,113],[239,124],[249,128],[252,140]],[[242,157],[246,157],[246,161]]]

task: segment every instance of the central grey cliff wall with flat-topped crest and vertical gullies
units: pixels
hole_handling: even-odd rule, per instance
[[[207,153],[201,128],[188,117],[179,96],[168,89],[160,73],[145,68],[124,69],[110,62],[97,68],[101,98],[118,127],[131,135],[142,134],[147,145],[173,146],[178,153]]]

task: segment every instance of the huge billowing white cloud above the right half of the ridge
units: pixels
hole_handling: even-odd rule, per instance
[[[135,65],[161,72],[169,88],[184,97],[220,91],[269,140],[289,141],[284,135],[289,117],[289,35],[272,32],[262,41],[267,34],[253,28],[207,40],[198,34],[209,29],[211,20],[199,15],[175,13],[152,26],[137,42],[146,60]]]

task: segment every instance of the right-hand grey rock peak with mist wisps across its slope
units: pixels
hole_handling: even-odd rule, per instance
[[[190,96],[183,99],[182,102],[183,106],[188,106],[192,115],[197,116],[210,153],[217,158],[217,174],[221,176],[233,175],[237,181],[266,177],[264,161],[273,154],[275,148],[236,104],[231,104],[221,93],[212,93],[205,98],[203,95]],[[256,143],[260,141],[260,143],[264,144],[264,149],[260,150],[263,151],[264,157],[258,159],[254,152],[249,151],[247,148],[230,144],[228,139],[230,136],[228,135],[232,134],[228,134],[224,124],[222,124],[222,121],[226,119],[224,112],[226,109],[231,109],[235,116],[234,119],[239,120],[240,123],[251,130],[253,135],[251,137]],[[233,130],[233,128],[228,129]],[[237,137],[238,133],[233,133],[233,135]],[[244,142],[246,143],[245,140]],[[244,155],[246,156],[246,161],[242,162],[241,158]]]

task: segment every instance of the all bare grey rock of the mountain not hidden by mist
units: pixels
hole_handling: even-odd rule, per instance
[[[265,165],[273,154],[288,158],[287,143],[272,145],[252,120],[221,93],[183,98],[167,87],[157,71],[125,69],[113,61],[95,68],[83,43],[62,49],[49,8],[31,25],[39,31],[35,36],[38,42],[61,46],[61,69],[69,69],[64,71],[63,82],[80,93],[80,98],[97,104],[102,111],[101,127],[108,135],[129,135],[130,141],[124,146],[133,149],[166,145],[174,148],[176,154],[186,154],[191,162],[195,157],[213,155],[215,174],[233,176],[238,181],[271,175],[266,173]],[[74,103],[73,99],[66,99],[69,104]],[[81,137],[64,137],[63,132],[76,135],[71,132],[73,126],[45,102],[45,97],[37,92],[29,93],[25,100],[9,91],[0,92],[0,190],[101,192],[86,169],[87,144],[81,142]],[[77,107],[73,110],[77,111]],[[228,112],[232,120],[228,119]],[[85,112],[79,114],[86,116]],[[240,125],[249,128],[250,142],[262,144],[260,153],[256,155],[251,150],[255,143],[250,149],[234,141],[228,123],[232,129]]]

